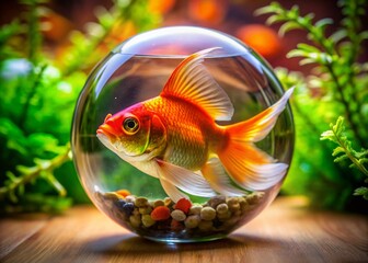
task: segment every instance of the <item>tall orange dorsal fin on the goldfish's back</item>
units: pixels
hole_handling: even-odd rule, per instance
[[[229,121],[232,103],[202,64],[204,57],[219,47],[208,48],[185,58],[172,72],[161,96],[175,96],[200,106],[216,121]]]

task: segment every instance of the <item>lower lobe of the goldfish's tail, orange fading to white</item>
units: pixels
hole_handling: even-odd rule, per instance
[[[288,169],[286,163],[276,163],[254,145],[239,141],[230,141],[219,157],[233,181],[250,191],[263,191],[276,185]]]

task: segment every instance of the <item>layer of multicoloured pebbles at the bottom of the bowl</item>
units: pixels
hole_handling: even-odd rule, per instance
[[[226,231],[253,210],[264,193],[246,196],[214,196],[204,205],[192,204],[181,198],[176,204],[169,197],[148,201],[131,195],[129,191],[95,193],[97,202],[104,202],[113,216],[126,221],[135,229],[164,231]]]

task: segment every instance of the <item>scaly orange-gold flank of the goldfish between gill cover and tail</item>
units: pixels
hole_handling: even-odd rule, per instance
[[[164,122],[168,146],[164,161],[199,170],[208,155],[222,141],[222,132],[200,107],[177,98],[159,96],[145,103]]]

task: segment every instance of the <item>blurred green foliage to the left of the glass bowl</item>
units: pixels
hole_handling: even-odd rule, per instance
[[[73,31],[55,58],[41,30],[51,12],[46,2],[22,0],[25,13],[0,28],[0,213],[58,213],[88,201],[70,162],[79,92],[88,71],[124,37],[160,22],[147,0],[115,0],[108,10],[96,8],[96,22]]]

